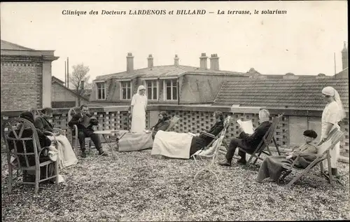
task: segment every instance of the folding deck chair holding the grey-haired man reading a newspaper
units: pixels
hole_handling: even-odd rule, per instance
[[[251,155],[249,160],[246,162],[246,165],[249,165],[251,163],[251,161],[253,160],[253,158],[255,158],[253,164],[255,164],[256,161],[258,161],[258,159],[263,160],[260,157],[261,153],[265,153],[266,155],[272,155],[271,151],[269,150],[269,144],[271,144],[271,141],[274,142],[274,146],[276,146],[277,153],[279,153],[279,155],[281,155],[281,152],[279,151],[279,146],[276,143],[276,139],[274,139],[274,132],[275,132],[276,127],[279,124],[279,121],[281,120],[282,116],[283,116],[283,113],[279,114],[279,116],[274,117],[274,120],[272,121],[272,124],[269,127],[269,130],[267,130],[264,137],[262,137],[260,144],[258,145],[258,147],[255,149],[255,151],[253,153],[248,153],[243,148],[239,148],[240,151],[243,151],[244,153],[248,153]],[[265,149],[267,152],[265,151]]]

